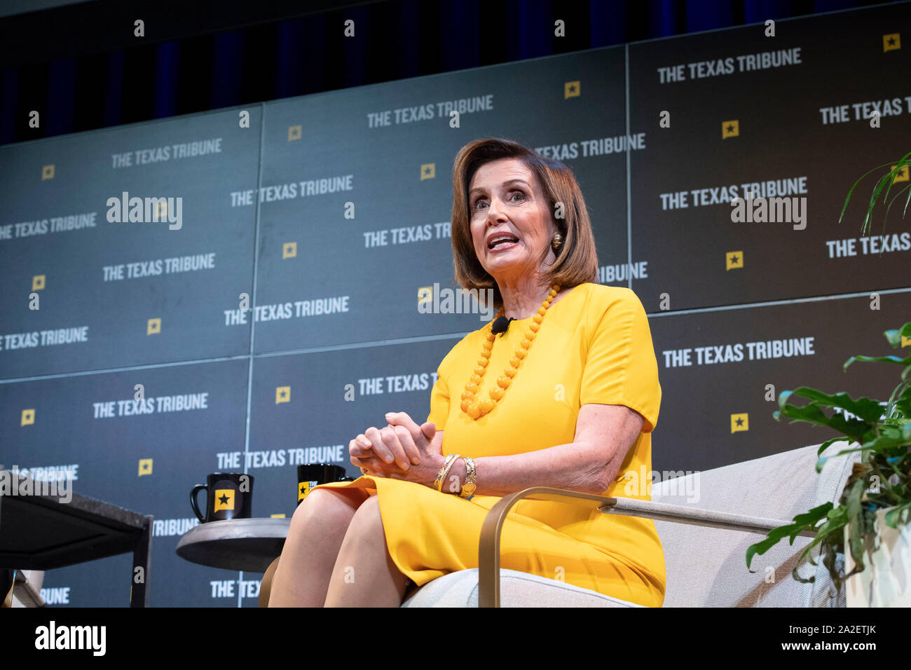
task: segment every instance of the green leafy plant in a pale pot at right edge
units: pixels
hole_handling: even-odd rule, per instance
[[[909,157],[911,152],[898,160],[895,166],[886,164],[874,168],[878,170],[889,166],[891,169],[876,183],[861,228],[862,233],[870,230],[873,209],[879,195],[885,190],[884,202],[888,200],[896,177],[911,163]],[[855,181],[848,191],[842,217],[851,193],[871,171],[873,170]],[[888,202],[885,216],[905,191],[907,211],[908,201],[911,201],[911,180]],[[885,219],[883,225],[885,232]],[[885,338],[892,348],[901,346],[903,342],[911,342],[911,322],[897,330],[885,331]],[[911,525],[908,524],[911,517],[911,452],[908,449],[911,445],[911,355],[851,356],[845,361],[844,369],[855,361],[902,366],[900,382],[887,401],[867,397],[852,399],[846,393],[829,395],[811,387],[799,387],[793,391],[783,391],[779,395],[779,408],[773,413],[775,420],[788,417],[791,423],[801,421],[814,426],[825,426],[840,434],[820,445],[817,452],[819,459],[816,461],[817,473],[822,471],[825,461],[832,456],[859,451],[860,461],[854,464],[837,507],[832,502],[826,502],[804,514],[798,514],[793,518],[793,523],[769,531],[765,540],[747,548],[747,569],[755,554],[768,551],[786,537],[793,544],[801,531],[812,530],[816,533],[814,540],[806,546],[800,558],[809,555],[810,562],[816,565],[811,551],[816,545],[821,545],[823,564],[828,569],[836,590],[840,592],[845,583],[848,585],[849,606],[907,605],[909,589],[896,588],[894,579],[897,575],[907,579],[907,575],[911,574]],[[809,402],[798,407],[788,402],[794,396],[807,398]],[[831,415],[826,415],[823,408],[832,409]],[[837,454],[823,456],[826,448],[844,441],[849,443],[848,448],[843,448]],[[844,551],[845,545],[849,551]],[[839,553],[844,554],[844,572],[836,565]],[[897,568],[899,562],[904,562],[904,567],[894,569],[893,566]],[[867,563],[871,570],[861,575]],[[800,562],[793,569],[793,578],[798,582],[813,582],[813,576],[806,579],[799,574],[799,565]],[[849,582],[851,578],[854,579]],[[903,598],[905,600],[901,600]]]

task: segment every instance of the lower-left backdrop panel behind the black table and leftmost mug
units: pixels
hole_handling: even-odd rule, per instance
[[[174,550],[197,522],[193,485],[220,471],[219,453],[243,451],[249,366],[240,359],[0,385],[0,462],[48,480],[68,469],[73,492],[154,516],[150,605],[223,604],[210,598],[209,581],[225,571],[194,566]],[[144,402],[136,400],[138,384]],[[33,422],[22,425],[29,409]],[[129,563],[108,572],[102,565],[122,562],[108,561],[48,572],[46,586],[71,587],[80,606],[128,604]],[[111,589],[117,596],[108,599]]]

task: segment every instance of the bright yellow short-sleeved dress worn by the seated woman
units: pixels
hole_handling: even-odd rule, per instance
[[[531,317],[497,335],[482,391],[496,383]],[[661,389],[645,310],[628,288],[582,283],[548,308],[512,385],[475,420],[461,396],[481,351],[481,330],[445,356],[431,391],[430,415],[443,430],[443,454],[507,456],[572,442],[579,407],[625,405],[644,417],[642,432],[603,495],[650,500],[651,431]],[[417,420],[415,418],[415,420]],[[476,460],[478,479],[484,461]],[[630,473],[630,476],[627,476]],[[389,554],[422,585],[477,567],[477,546],[496,496],[471,500],[404,479],[364,476],[323,487],[361,488],[379,496]],[[631,603],[664,601],[664,552],[650,519],[603,513],[582,500],[522,500],[503,525],[501,567],[558,579]]]

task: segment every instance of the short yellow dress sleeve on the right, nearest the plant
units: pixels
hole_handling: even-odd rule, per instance
[[[639,297],[630,290],[611,296],[600,318],[592,313],[589,319],[579,406],[625,405],[644,417],[642,432],[651,432],[658,423],[661,387],[649,318]]]

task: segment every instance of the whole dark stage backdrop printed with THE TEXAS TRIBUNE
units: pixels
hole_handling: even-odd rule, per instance
[[[872,181],[837,219],[857,177],[909,150],[911,12],[767,32],[0,148],[0,463],[154,515],[151,605],[255,605],[261,575],[175,554],[197,523],[189,490],[245,471],[254,516],[290,517],[298,464],[354,474],[348,441],[384,412],[425,419],[440,360],[489,319],[446,309],[452,164],[486,136],[572,167],[599,281],[649,313],[653,479],[832,437],[775,422],[774,398],[801,385],[883,397],[896,381],[842,364],[894,353],[882,332],[911,320],[907,222],[861,239]],[[752,215],[771,197],[790,216]],[[130,565],[48,572],[46,599],[126,605]]]

